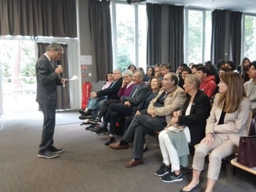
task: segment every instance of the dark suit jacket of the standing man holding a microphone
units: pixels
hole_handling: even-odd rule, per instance
[[[54,65],[53,65],[54,66]],[[58,74],[45,55],[36,61],[36,101],[44,105],[56,105],[56,85],[62,85]]]

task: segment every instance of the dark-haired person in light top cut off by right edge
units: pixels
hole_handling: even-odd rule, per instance
[[[244,90],[248,98],[251,100],[250,110],[254,117],[256,115],[256,60],[252,61],[248,76],[250,80],[244,83]]]

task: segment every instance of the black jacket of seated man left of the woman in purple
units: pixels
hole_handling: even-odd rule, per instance
[[[110,86],[108,88],[97,92],[97,96],[99,96],[99,97],[100,96],[108,96],[108,100],[120,100],[117,93],[119,92],[119,89],[123,84],[123,78],[120,78],[119,80],[117,80],[116,83],[113,85],[113,87],[112,87],[112,84],[110,84]]]

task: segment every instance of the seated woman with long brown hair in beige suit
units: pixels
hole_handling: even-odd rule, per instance
[[[193,159],[192,181],[181,192],[199,188],[200,172],[204,168],[204,157],[209,151],[208,180],[205,192],[212,192],[220,173],[221,160],[236,152],[240,136],[246,136],[246,121],[250,100],[244,92],[243,80],[236,72],[220,75],[219,94],[215,96],[205,134],[198,144]]]

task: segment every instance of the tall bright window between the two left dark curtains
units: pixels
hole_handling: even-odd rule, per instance
[[[112,2],[113,69],[146,68],[147,14],[143,4]]]

